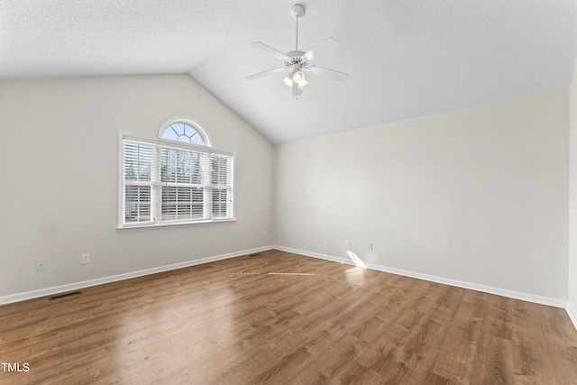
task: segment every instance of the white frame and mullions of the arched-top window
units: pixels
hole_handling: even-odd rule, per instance
[[[168,121],[167,121],[168,122]],[[170,122],[174,123],[175,120],[171,120]],[[190,122],[190,121],[188,121]],[[188,123],[187,122],[187,123]],[[163,124],[164,125],[164,124]],[[166,129],[169,124],[167,124],[163,129]],[[195,124],[195,128],[198,125]],[[163,133],[163,129],[159,132],[160,134]],[[204,130],[199,130],[200,133],[205,135],[206,142],[211,143],[210,138],[206,135]],[[136,142],[142,143],[143,145],[151,145],[153,147],[153,155],[151,160],[151,167],[152,171],[150,183],[147,182],[139,182],[134,183],[131,181],[124,180],[124,143],[125,142]],[[150,227],[160,227],[166,225],[192,225],[192,224],[208,224],[208,223],[216,223],[216,222],[233,222],[236,220],[235,216],[235,203],[236,203],[236,192],[235,192],[235,163],[236,163],[236,154],[234,152],[227,152],[227,151],[218,151],[212,147],[208,146],[201,146],[186,142],[178,142],[168,139],[163,139],[159,137],[150,137],[138,133],[127,133],[124,131],[120,131],[118,133],[118,229],[130,229],[130,228],[150,228]],[[168,182],[163,183],[161,179],[161,170],[160,170],[160,151],[162,148],[170,148],[176,150],[184,150],[184,151],[194,151],[198,153],[206,154],[205,158],[205,176],[207,179],[210,179],[210,174],[212,170],[212,162],[211,159],[213,157],[224,156],[225,158],[231,159],[231,179],[230,179],[230,186],[227,185],[226,188],[230,191],[230,196],[232,202],[230,203],[230,209],[227,206],[227,214],[226,216],[213,216],[213,199],[212,199],[212,191],[215,189],[223,188],[222,186],[215,186],[212,183],[212,180],[204,180],[204,184],[202,188],[204,188],[204,198],[203,198],[203,217],[199,219],[187,219],[187,220],[162,220],[160,211],[161,211],[161,190],[162,186],[166,185],[168,187]],[[127,185],[148,185],[151,186],[151,220],[145,222],[126,222],[125,221],[125,186]],[[198,186],[200,187],[200,186]],[[230,213],[230,214],[229,214]]]

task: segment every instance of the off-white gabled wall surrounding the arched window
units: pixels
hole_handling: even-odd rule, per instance
[[[119,130],[176,115],[236,151],[237,222],[116,230]],[[270,142],[186,75],[0,82],[0,299],[269,245],[272,182]]]

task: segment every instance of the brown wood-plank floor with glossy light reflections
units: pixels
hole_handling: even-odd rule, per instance
[[[577,384],[577,331],[563,309],[270,251],[0,307],[0,361],[10,385]]]

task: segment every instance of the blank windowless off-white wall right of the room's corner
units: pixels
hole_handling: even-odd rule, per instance
[[[346,259],[350,239],[372,267],[565,303],[568,97],[278,145],[275,241]]]

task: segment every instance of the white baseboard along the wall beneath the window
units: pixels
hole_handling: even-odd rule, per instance
[[[146,270],[137,270],[137,271],[127,272],[124,274],[113,275],[110,277],[98,278],[96,280],[83,280],[81,282],[74,282],[74,283],[69,283],[66,285],[54,286],[54,287],[47,288],[47,289],[38,289],[38,290],[25,291],[23,293],[10,294],[7,296],[0,297],[0,305],[10,304],[13,302],[20,302],[20,301],[23,301],[26,299],[46,297],[46,296],[50,296],[52,294],[63,293],[66,291],[86,289],[86,288],[89,288],[91,286],[103,285],[105,283],[116,282],[119,280],[130,280],[131,278],[137,278],[137,277],[142,277],[145,275],[156,274],[156,273],[163,272],[163,271],[187,268],[189,266],[200,265],[200,264],[208,263],[208,262],[222,261],[222,260],[226,260],[229,258],[240,257],[243,255],[252,254],[254,252],[265,252],[265,251],[273,249],[273,248],[274,248],[273,246],[264,246],[264,247],[259,247],[256,249],[243,250],[240,252],[229,252],[227,254],[221,254],[221,255],[215,255],[212,257],[201,258],[200,260],[173,263],[170,265],[160,266],[157,268],[151,268],[151,269],[146,269]]]

